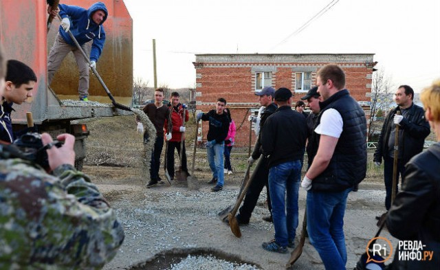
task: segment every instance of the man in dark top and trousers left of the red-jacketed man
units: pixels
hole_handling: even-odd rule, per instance
[[[160,168],[160,154],[164,147],[164,124],[165,120],[170,116],[170,110],[162,101],[164,100],[164,89],[158,88],[154,91],[154,103],[146,104],[144,106],[144,113],[148,116],[150,121],[156,128],[156,142],[154,144],[153,153],[151,153],[151,166],[150,166],[150,181],[146,184],[147,188],[152,188],[157,185],[159,181],[159,168]],[[146,131],[145,131],[146,132]],[[169,141],[173,136],[171,133],[166,133],[166,140]]]

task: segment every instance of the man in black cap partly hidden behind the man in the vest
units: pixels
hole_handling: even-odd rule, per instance
[[[316,150],[318,150],[318,145],[314,144],[314,140],[316,139],[315,123],[318,119],[319,112],[321,111],[319,107],[321,95],[318,93],[318,87],[313,87],[310,89],[301,100],[307,100],[307,104],[311,110],[311,113],[307,115],[307,146],[305,148],[307,152],[307,168],[310,167],[311,161],[314,160],[314,155],[316,155]]]

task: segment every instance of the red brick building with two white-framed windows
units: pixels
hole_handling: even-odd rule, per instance
[[[254,93],[265,86],[294,91],[294,102],[316,84],[316,72],[336,63],[347,76],[347,89],[369,110],[374,54],[196,54],[197,111],[214,109],[225,98],[237,126],[236,146],[248,146],[248,115],[260,107]],[[208,124],[201,136],[206,140]],[[252,144],[255,142],[252,132]]]

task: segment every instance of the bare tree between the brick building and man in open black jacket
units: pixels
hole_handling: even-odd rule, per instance
[[[391,89],[393,85],[391,83],[391,76],[388,76],[384,69],[378,69],[373,72],[373,81],[371,87],[371,110],[369,119],[369,141],[377,129],[381,128],[380,125],[375,124],[377,117],[384,116],[393,103],[393,97],[391,95]]]

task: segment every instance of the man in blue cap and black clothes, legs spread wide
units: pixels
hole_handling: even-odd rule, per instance
[[[248,192],[246,192],[246,196],[243,202],[243,206],[240,207],[239,214],[236,215],[236,220],[239,224],[248,224],[250,220],[250,216],[254,211],[255,205],[259,200],[259,196],[263,187],[266,186],[267,190],[267,207],[271,212],[270,216],[263,217],[263,220],[272,222],[272,205],[270,204],[270,192],[268,185],[268,177],[269,177],[269,168],[267,167],[267,157],[260,157],[260,147],[261,147],[261,133],[263,132],[263,126],[267,120],[267,117],[272,115],[278,108],[274,103],[274,93],[275,89],[272,87],[265,87],[262,91],[255,93],[255,95],[259,96],[259,102],[261,106],[264,106],[265,109],[263,113],[261,113],[260,120],[260,133],[256,139],[254,151],[252,155],[248,159],[249,166],[252,166],[256,159],[263,159],[259,164],[255,167],[255,178],[252,179],[250,183]],[[229,223],[228,218],[225,219],[225,223]]]

